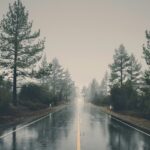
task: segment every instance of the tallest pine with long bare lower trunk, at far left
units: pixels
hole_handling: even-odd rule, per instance
[[[18,77],[30,74],[30,67],[41,59],[44,49],[44,40],[36,40],[40,30],[32,33],[28,15],[21,0],[16,0],[9,5],[0,24],[0,66],[7,70],[5,75],[12,75],[14,105],[17,105]]]

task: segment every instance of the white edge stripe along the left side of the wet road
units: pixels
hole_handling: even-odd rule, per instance
[[[40,121],[40,120],[46,118],[46,117],[48,117],[48,116],[49,116],[49,114],[46,115],[46,116],[43,116],[43,117],[41,117],[41,118],[39,118],[39,119],[37,119],[37,120],[35,120],[35,121],[32,121],[32,122],[30,122],[30,123],[28,123],[28,124],[26,124],[26,125],[24,125],[24,126],[22,126],[22,127],[20,127],[20,128],[17,128],[16,130],[13,130],[13,131],[11,131],[11,132],[9,132],[9,133],[6,133],[6,134],[0,136],[0,139],[5,138],[5,137],[7,137],[8,135],[10,135],[10,134],[12,134],[12,133],[14,133],[14,132],[17,132],[17,131],[19,131],[19,130],[25,128],[25,127],[28,127],[28,126],[30,126],[30,125],[32,125],[32,124],[34,124],[34,123],[36,123],[36,122],[38,122],[38,121]]]

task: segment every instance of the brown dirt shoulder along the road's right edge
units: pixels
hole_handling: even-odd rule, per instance
[[[101,111],[113,116],[116,119],[119,119],[120,121],[128,123],[129,125],[132,125],[133,127],[136,127],[144,132],[150,133],[150,120],[141,117],[130,116],[121,112],[110,111],[107,107],[96,106],[93,104],[91,105],[93,107],[99,107]]]

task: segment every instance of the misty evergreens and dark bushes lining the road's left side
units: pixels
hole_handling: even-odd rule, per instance
[[[76,95],[69,71],[56,58],[46,61],[45,39],[32,26],[21,0],[9,4],[0,22],[0,111],[20,104],[36,109]]]

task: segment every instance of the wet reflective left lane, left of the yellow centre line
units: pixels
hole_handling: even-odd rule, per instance
[[[70,150],[75,149],[75,112],[61,112],[0,140],[0,150]],[[66,145],[67,143],[67,145]]]

